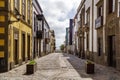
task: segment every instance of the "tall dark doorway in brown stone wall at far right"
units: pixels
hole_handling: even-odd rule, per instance
[[[108,37],[108,65],[116,67],[115,36]]]

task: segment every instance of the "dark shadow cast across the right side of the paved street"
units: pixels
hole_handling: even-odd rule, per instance
[[[67,61],[72,67],[79,73],[80,77],[85,80],[120,80],[120,72],[114,68],[104,67],[102,65],[95,64],[95,73],[87,74],[85,72],[85,61],[71,54],[63,54],[67,58]],[[70,67],[71,68],[71,67]]]

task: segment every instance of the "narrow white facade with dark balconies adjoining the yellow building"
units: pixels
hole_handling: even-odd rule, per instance
[[[37,0],[33,0],[33,58],[41,56],[41,39],[42,39],[42,20],[38,19],[38,16],[42,15],[43,11]],[[40,33],[40,34],[39,34]]]

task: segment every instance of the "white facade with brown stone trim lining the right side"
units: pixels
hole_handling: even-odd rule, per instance
[[[120,70],[120,0],[82,0],[75,19],[78,56]]]

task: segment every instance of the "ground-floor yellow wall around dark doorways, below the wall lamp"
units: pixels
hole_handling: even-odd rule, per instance
[[[14,42],[13,42],[14,41],[14,36],[13,36],[14,35],[14,28],[18,29],[18,32],[19,32],[19,34],[18,34],[19,35],[19,38],[18,38],[19,39],[18,40],[19,41],[19,59],[21,59],[22,32],[25,32],[25,39],[26,39],[25,40],[25,43],[26,43],[25,44],[26,45],[25,46],[25,48],[26,48],[26,50],[25,50],[26,51],[25,52],[26,55],[25,56],[26,57],[27,57],[27,35],[29,34],[30,37],[32,37],[32,30],[31,30],[31,28],[29,26],[25,25],[24,23],[22,23],[22,22],[16,22],[16,23],[14,23],[14,24],[11,25],[11,28],[9,29],[9,31],[10,31],[10,43],[11,43],[11,46],[10,46],[10,50],[11,51],[10,51],[10,59],[9,59],[10,62],[13,62],[13,56],[14,56],[14,54],[13,54],[14,53],[13,52],[13,48],[14,48],[14,46],[13,46],[13,44],[14,44]],[[32,42],[31,39],[30,39],[30,42]],[[30,44],[30,45],[31,45],[30,48],[32,48],[32,44]],[[31,50],[30,50],[30,53],[32,53]]]

